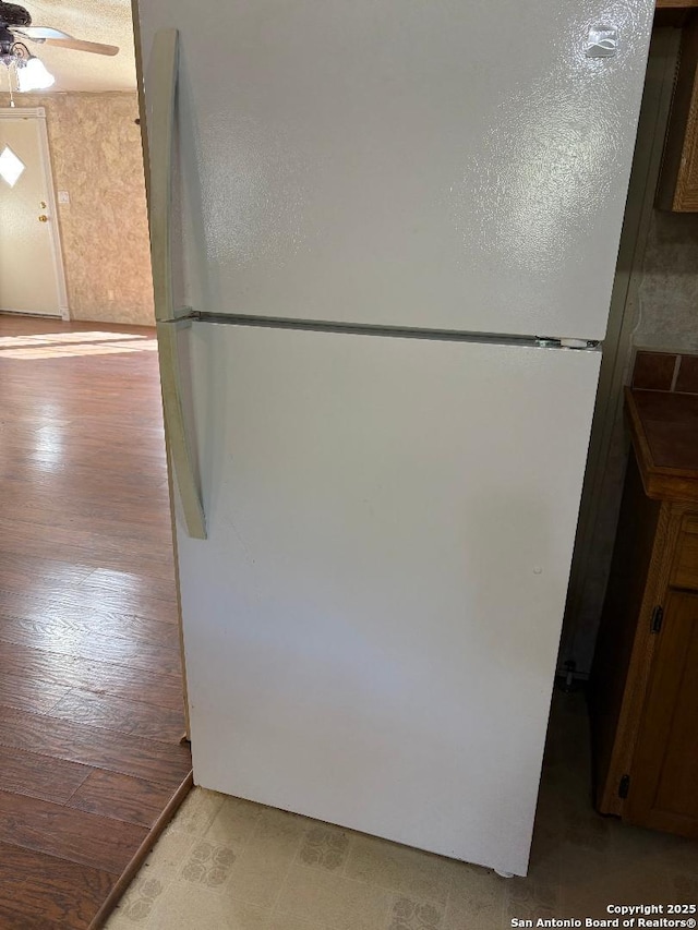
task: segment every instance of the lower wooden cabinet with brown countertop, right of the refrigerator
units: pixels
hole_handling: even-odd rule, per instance
[[[628,394],[634,455],[590,683],[595,802],[698,838],[698,397],[654,394]]]

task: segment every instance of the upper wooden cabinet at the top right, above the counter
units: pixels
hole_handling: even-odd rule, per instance
[[[698,212],[698,15],[684,26],[657,206]]]

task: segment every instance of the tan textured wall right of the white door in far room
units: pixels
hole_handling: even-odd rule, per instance
[[[71,317],[152,324],[136,93],[22,95],[17,105],[45,107],[55,186],[70,195],[58,212]]]

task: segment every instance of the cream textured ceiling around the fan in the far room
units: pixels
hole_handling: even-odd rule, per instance
[[[132,90],[136,86],[131,0],[12,0],[32,14],[32,25],[53,26],[77,39],[119,46],[112,58],[26,43],[51,74],[57,90]],[[1,78],[0,78],[1,80]],[[7,87],[0,86],[0,90]]]

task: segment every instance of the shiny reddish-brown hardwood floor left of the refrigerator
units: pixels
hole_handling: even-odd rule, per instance
[[[154,347],[0,315],[3,930],[99,926],[190,775]]]

